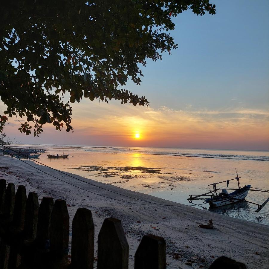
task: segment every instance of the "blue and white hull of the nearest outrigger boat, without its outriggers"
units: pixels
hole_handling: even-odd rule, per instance
[[[237,193],[233,192],[233,193],[230,193],[226,197],[221,196],[220,198],[205,199],[205,201],[208,202],[210,207],[213,207],[213,208],[222,207],[228,204],[234,204],[234,203],[240,202],[241,200],[244,200],[244,198],[246,198],[248,194],[249,189],[250,189],[250,185],[247,185],[243,187],[241,191]]]

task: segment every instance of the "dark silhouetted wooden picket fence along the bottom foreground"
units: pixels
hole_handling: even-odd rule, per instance
[[[91,210],[79,208],[72,222],[68,261],[69,215],[64,200],[43,197],[25,186],[0,180],[0,269],[93,269],[94,223]],[[98,235],[98,269],[127,269],[129,245],[121,221],[106,218]],[[211,265],[212,266],[212,265]],[[135,253],[135,269],[166,268],[166,242],[143,236]],[[210,267],[211,268],[211,267]],[[212,267],[215,268],[215,267]]]

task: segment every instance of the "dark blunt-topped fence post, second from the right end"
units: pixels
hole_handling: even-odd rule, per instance
[[[135,269],[165,269],[166,243],[162,237],[143,236],[135,253]]]

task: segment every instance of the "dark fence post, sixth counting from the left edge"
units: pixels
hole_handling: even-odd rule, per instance
[[[61,262],[67,262],[69,241],[69,215],[66,202],[57,199],[51,214],[50,252]]]

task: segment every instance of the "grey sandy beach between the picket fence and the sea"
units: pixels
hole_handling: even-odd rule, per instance
[[[13,182],[16,188],[25,185],[27,192],[36,192],[40,201],[44,196],[64,199],[70,205],[68,207],[70,224],[77,208],[90,209],[95,224],[95,257],[97,257],[97,236],[101,225],[105,218],[115,217],[122,221],[126,232],[129,243],[129,268],[134,267],[135,251],[143,235],[148,233],[162,236],[166,240],[167,268],[190,268],[185,264],[187,260],[193,261],[191,268],[201,268],[200,265],[208,268],[217,257],[223,255],[244,262],[249,269],[269,268],[269,227],[266,225],[193,207],[140,205],[180,204],[69,174],[81,180],[79,181],[33,161],[24,160],[24,162],[1,155],[0,166],[7,166],[9,169],[0,168],[0,178],[6,179],[7,183]],[[85,190],[46,175],[26,163]],[[125,202],[95,195],[86,190]],[[217,229],[198,227],[201,223],[206,224],[211,218]]]

